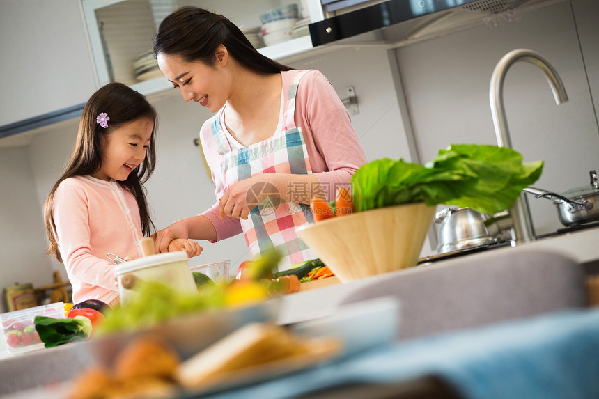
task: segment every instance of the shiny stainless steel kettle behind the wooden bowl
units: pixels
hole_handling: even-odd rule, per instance
[[[470,208],[449,207],[435,214],[440,223],[437,253],[458,251],[495,242],[486,226],[483,215]]]

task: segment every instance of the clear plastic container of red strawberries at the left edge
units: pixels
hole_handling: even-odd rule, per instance
[[[36,316],[63,319],[65,318],[64,304],[63,302],[55,302],[54,304],[0,314],[2,339],[10,354],[20,354],[44,348],[44,343],[40,341],[40,336],[38,336],[38,331],[36,331],[36,326],[33,323]]]

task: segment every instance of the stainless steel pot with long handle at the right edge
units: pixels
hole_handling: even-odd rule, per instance
[[[597,172],[589,171],[591,184],[556,194],[552,191],[527,187],[522,189],[535,198],[547,198],[555,204],[557,217],[563,226],[577,226],[599,220],[599,183]]]

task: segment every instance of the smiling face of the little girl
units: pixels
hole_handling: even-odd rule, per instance
[[[154,123],[149,118],[139,118],[111,128],[102,138],[102,166],[93,177],[107,181],[127,180],[129,174],[146,159],[153,129]]]

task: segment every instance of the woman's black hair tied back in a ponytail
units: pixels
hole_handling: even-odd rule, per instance
[[[154,56],[178,55],[205,65],[214,65],[219,45],[249,70],[268,74],[292,69],[260,54],[226,17],[194,6],[179,8],[164,18],[153,41]]]

